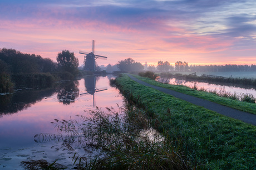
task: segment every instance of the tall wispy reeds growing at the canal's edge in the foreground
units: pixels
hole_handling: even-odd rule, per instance
[[[145,110],[128,103],[119,111],[87,111],[90,118],[55,119],[58,135],[41,133],[35,140],[63,141],[57,149],[75,153],[73,164],[80,169],[191,169],[173,142],[150,126]]]

